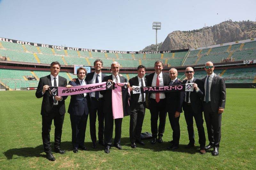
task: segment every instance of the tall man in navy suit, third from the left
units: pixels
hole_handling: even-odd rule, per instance
[[[103,67],[103,62],[100,59],[97,59],[93,63],[94,65],[94,72],[88,73],[86,75],[86,82],[88,84],[94,84],[94,83],[101,83],[103,81],[103,78],[107,76],[106,74],[103,74],[101,72],[101,69]],[[98,122],[99,122],[99,128],[98,128],[98,139],[99,144],[104,145],[104,114],[103,114],[103,100],[102,100],[102,94],[99,92],[90,92],[89,93],[91,97],[91,103],[89,105],[89,118],[90,118],[90,134],[92,139],[92,148],[96,148],[96,117],[98,115]],[[96,114],[97,113],[97,114]]]

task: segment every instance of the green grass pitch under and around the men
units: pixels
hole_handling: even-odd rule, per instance
[[[180,148],[167,150],[172,140],[172,129],[166,118],[164,143],[150,144],[136,149],[130,147],[129,121],[124,117],[121,145],[112,147],[109,154],[98,145],[92,149],[89,119],[87,122],[86,151],[72,152],[71,125],[66,113],[61,148],[66,154],[53,152],[56,161],[45,157],[41,138],[41,102],[35,91],[0,91],[0,169],[255,169],[256,167],[256,114],[255,89],[227,89],[226,109],[222,115],[220,155],[199,153],[198,133],[194,123],[196,147],[185,149],[188,132],[184,115],[180,117]],[[70,97],[66,100],[68,108]],[[208,144],[205,127],[206,144]],[[51,143],[53,145],[54,125]],[[142,132],[151,132],[150,113],[146,110]],[[113,135],[114,136],[114,135]]]

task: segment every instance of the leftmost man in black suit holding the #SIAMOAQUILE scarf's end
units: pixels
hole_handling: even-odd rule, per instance
[[[50,143],[50,131],[52,125],[52,119],[54,121],[54,148],[57,153],[65,153],[60,149],[62,125],[64,121],[65,99],[67,96],[51,96],[49,93],[49,86],[66,87],[67,79],[60,77],[60,63],[52,62],[50,66],[51,74],[40,78],[38,87],[36,90],[36,97],[43,97],[41,115],[42,115],[42,139],[44,145],[44,152],[46,158],[54,161],[55,158],[52,155],[52,148]]]

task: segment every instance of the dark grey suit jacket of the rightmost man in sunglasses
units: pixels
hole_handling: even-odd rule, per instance
[[[206,77],[202,79],[203,83],[205,82]],[[210,89],[210,95],[212,111],[218,112],[219,107],[225,108],[226,85],[223,77],[214,74]]]

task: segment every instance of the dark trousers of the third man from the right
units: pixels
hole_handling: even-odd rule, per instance
[[[175,112],[168,112],[169,121],[172,127],[172,144],[179,146],[180,143],[180,116],[175,117]]]

